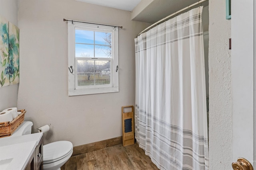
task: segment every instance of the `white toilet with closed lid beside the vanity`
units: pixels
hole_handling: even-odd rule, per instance
[[[31,134],[33,123],[24,121],[10,137]],[[43,146],[44,170],[60,170],[73,153],[70,141],[56,141]]]

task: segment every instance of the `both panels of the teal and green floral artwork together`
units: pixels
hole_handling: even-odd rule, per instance
[[[0,87],[20,82],[19,29],[0,16]]]

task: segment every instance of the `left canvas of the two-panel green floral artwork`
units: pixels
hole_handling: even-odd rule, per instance
[[[9,24],[0,16],[0,87],[10,85],[9,74]]]

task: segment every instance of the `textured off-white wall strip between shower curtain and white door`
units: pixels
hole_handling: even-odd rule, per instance
[[[209,0],[209,164],[210,170],[231,169],[231,20],[226,1]]]

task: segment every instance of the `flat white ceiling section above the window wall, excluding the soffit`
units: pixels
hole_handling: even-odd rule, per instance
[[[90,4],[132,11],[141,0],[78,0]]]

